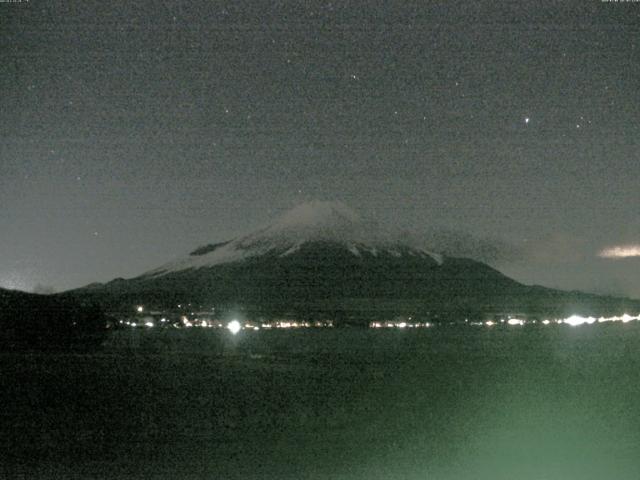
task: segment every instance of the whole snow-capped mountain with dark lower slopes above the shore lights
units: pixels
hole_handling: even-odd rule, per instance
[[[132,279],[67,292],[108,309],[240,306],[255,315],[370,319],[622,313],[629,301],[527,286],[418,248],[340,202],[302,204],[255,232]]]

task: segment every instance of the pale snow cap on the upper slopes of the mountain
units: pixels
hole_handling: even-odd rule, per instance
[[[265,254],[292,255],[309,242],[330,242],[353,255],[380,253],[442,258],[427,250],[403,244],[341,202],[314,201],[285,212],[274,223],[229,242],[198,248],[189,256],[167,263],[142,276],[161,276],[187,269],[213,267]]]

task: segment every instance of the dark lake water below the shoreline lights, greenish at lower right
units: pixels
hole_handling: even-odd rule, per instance
[[[0,355],[0,478],[638,479],[640,325],[126,331]]]

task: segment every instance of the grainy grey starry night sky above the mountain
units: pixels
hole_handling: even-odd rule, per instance
[[[0,286],[134,276],[322,199],[640,297],[640,248],[599,256],[640,244],[639,42],[640,2],[0,3]]]

